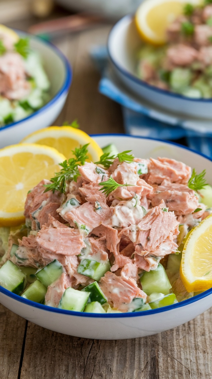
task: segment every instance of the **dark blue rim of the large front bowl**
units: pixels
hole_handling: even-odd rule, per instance
[[[212,158],[207,157],[203,153],[197,152],[196,150],[190,149],[190,147],[180,145],[176,142],[172,141],[166,141],[164,139],[158,139],[158,138],[150,138],[150,137],[142,137],[142,136],[132,136],[128,134],[121,134],[121,133],[104,133],[104,134],[91,134],[91,137],[106,137],[106,136],[118,136],[118,137],[127,137],[127,138],[137,138],[137,139],[144,139],[144,140],[150,140],[150,141],[158,141],[162,143],[166,143],[169,145],[174,145],[177,147],[180,147],[181,149],[184,150],[189,150],[192,153],[195,153],[197,155],[200,155],[201,157],[206,158],[208,161],[212,162]],[[176,304],[172,305],[167,305],[166,307],[161,307],[157,309],[152,309],[152,310],[145,310],[145,311],[140,311],[140,312],[125,312],[125,313],[85,313],[85,312],[77,312],[77,311],[71,311],[71,310],[65,310],[65,309],[59,309],[59,308],[54,308],[50,307],[49,305],[44,305],[44,304],[39,304],[34,301],[24,299],[20,295],[17,295],[15,293],[12,293],[9,290],[6,290],[0,285],[0,293],[5,294],[6,296],[9,296],[10,298],[17,300],[19,302],[22,302],[26,305],[31,305],[34,308],[39,308],[48,312],[55,312],[55,313],[60,313],[63,315],[70,315],[70,316],[80,316],[80,317],[91,317],[91,318],[123,318],[123,317],[140,317],[140,316],[147,316],[147,315],[153,315],[161,312],[166,312],[169,310],[175,310],[176,308],[184,307],[186,305],[189,305],[193,302],[196,302],[198,300],[201,300],[205,298],[206,296],[209,296],[212,294],[212,287],[209,288],[209,290],[203,291],[202,293],[193,296],[192,298],[183,300],[181,302],[178,302]]]

